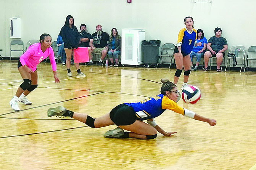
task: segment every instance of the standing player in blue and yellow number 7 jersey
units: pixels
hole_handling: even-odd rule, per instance
[[[174,48],[173,55],[177,70],[174,75],[173,83],[177,85],[184,66],[184,79],[181,90],[188,85],[188,77],[190,75],[190,52],[193,47],[201,46],[201,42],[196,43],[196,30],[194,29],[194,20],[191,16],[184,19],[185,28],[181,29],[178,34],[177,45]]]

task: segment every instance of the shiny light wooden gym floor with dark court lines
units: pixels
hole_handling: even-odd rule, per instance
[[[165,111],[156,122],[171,137],[154,140],[109,139],[115,125],[90,128],[77,120],[47,117],[49,107],[100,117],[120,103],[158,95],[160,79],[173,81],[175,69],[80,66],[86,77],[67,77],[57,65],[54,83],[50,63],[37,67],[38,88],[14,112],[9,104],[23,82],[17,61],[0,61],[1,170],[249,170],[256,163],[255,72],[191,71],[189,84],[199,87],[201,100],[178,102],[217,125]],[[181,87],[183,74],[178,83]],[[254,166],[255,167],[255,166]]]

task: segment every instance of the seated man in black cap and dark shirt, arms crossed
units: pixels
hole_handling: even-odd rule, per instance
[[[89,51],[89,50],[91,50],[91,47],[89,45],[89,41],[91,39],[91,34],[86,32],[85,24],[81,24],[80,30],[81,30],[81,32],[79,32],[79,34],[78,34],[78,38],[79,38],[79,46],[78,47],[88,47],[87,49]],[[90,56],[90,55],[92,55],[92,53],[89,53],[89,58],[92,58],[92,56]],[[92,65],[92,60],[91,60],[91,64],[89,64],[89,65]]]

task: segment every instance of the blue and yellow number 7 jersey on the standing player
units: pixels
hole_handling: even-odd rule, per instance
[[[177,47],[181,44],[181,51],[185,54],[189,54],[197,38],[196,30],[192,28],[192,32],[189,32],[186,28],[180,30],[178,34]]]

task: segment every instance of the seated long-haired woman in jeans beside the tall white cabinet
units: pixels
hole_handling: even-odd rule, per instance
[[[117,67],[118,63],[118,55],[121,54],[121,36],[118,34],[116,28],[112,28],[110,37],[109,37],[109,44],[108,44],[109,52],[107,53],[111,64],[109,66],[113,66],[113,56],[115,58],[115,65]]]

